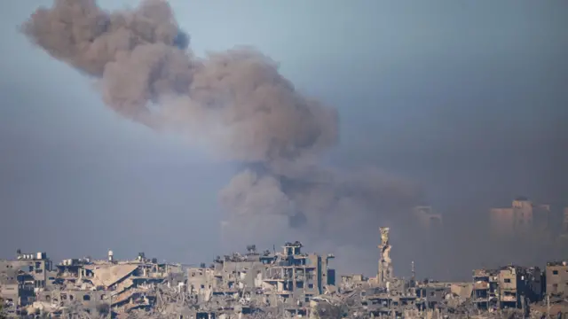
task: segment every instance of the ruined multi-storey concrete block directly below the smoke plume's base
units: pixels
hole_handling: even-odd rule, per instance
[[[290,314],[306,315],[309,301],[335,285],[335,271],[329,268],[334,256],[302,253],[300,242],[286,243],[281,253],[248,253],[218,257],[209,268],[189,268],[187,286],[200,301],[242,294],[264,307],[285,305]],[[202,265],[204,266],[204,265]]]

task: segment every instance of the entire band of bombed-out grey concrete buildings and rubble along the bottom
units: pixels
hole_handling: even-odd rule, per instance
[[[376,276],[343,275],[337,284],[330,267],[335,257],[304,253],[300,242],[286,243],[280,252],[248,245],[245,253],[217,256],[200,267],[161,263],[144,253],[117,261],[112,251],[102,261],[86,257],[53,265],[45,253],[18,252],[16,260],[0,261],[0,298],[9,316],[66,318],[447,318],[499,309],[542,314],[547,291],[554,309],[564,307],[566,262],[548,263],[546,276],[539,268],[507,266],[474,270],[468,283],[418,282],[414,262],[410,280],[395,276],[390,230],[381,228],[380,235]]]

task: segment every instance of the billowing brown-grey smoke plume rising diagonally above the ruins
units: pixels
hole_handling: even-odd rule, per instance
[[[283,227],[297,232],[286,239],[375,245],[379,224],[417,196],[412,184],[374,168],[321,165],[338,142],[335,109],[299,94],[254,49],[195,57],[166,1],[106,12],[95,0],[56,0],[22,30],[51,57],[99,79],[116,113],[193,136],[245,167],[220,196],[232,242],[272,243]]]

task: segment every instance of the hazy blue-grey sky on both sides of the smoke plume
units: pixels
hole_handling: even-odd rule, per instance
[[[0,257],[112,248],[209,261],[220,253],[217,191],[234,167],[115,115],[91,80],[30,45],[17,26],[48,4],[0,13]],[[198,55],[253,45],[335,106],[337,165],[409,176],[456,216],[477,200],[567,199],[565,1],[170,4]]]

